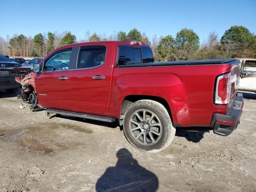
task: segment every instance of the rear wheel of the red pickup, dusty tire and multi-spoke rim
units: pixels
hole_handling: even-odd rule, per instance
[[[137,115],[135,116],[135,114],[138,114],[138,113],[141,114],[141,111],[143,111],[143,116],[139,115],[141,117],[139,119],[140,125],[134,124],[135,128],[132,128],[133,122],[134,122],[134,117],[135,118],[138,117]],[[145,115],[144,115],[144,111],[146,111]],[[150,127],[149,132],[151,132],[151,136],[154,135],[156,138],[152,138],[149,135],[149,133],[146,133],[145,134],[146,136],[144,137],[144,133],[146,131],[148,131],[148,129],[146,129],[146,128],[148,128],[148,126],[146,126],[146,128],[145,128],[144,126],[141,126],[141,124],[146,124],[146,121],[144,121],[144,120],[146,120],[147,111],[149,112],[149,114],[150,114],[150,112],[152,112],[151,113],[152,116],[153,117],[155,116],[155,118],[157,118],[156,121],[159,122],[156,124],[160,124],[159,128],[157,128],[160,135],[157,136],[157,135],[154,135],[155,128],[154,128],[154,130],[152,129],[152,131],[154,131],[154,132],[151,132],[152,126],[156,125],[156,124],[150,123],[150,120],[152,122],[153,119],[150,118],[150,120],[147,120],[148,124],[152,125]],[[138,127],[140,127],[140,128],[138,128]],[[132,130],[134,130],[134,129],[136,129],[138,135],[136,135],[136,133],[134,133],[135,131],[132,132]],[[141,135],[142,131],[143,131],[143,135],[142,135],[143,143],[142,143],[141,139],[136,139],[139,135]],[[130,144],[132,144],[132,146],[138,148],[139,150],[143,150],[143,151],[147,151],[147,152],[151,152],[151,153],[159,152],[170,145],[170,143],[172,142],[172,140],[175,136],[175,132],[176,132],[176,129],[172,126],[172,121],[171,121],[170,115],[168,114],[168,111],[159,102],[156,102],[153,100],[139,100],[137,102],[134,102],[125,113],[124,134],[125,134],[127,140],[130,142]],[[140,136],[140,138],[141,138],[141,136]],[[154,143],[152,142],[151,138],[152,138],[152,140],[154,140]],[[148,143],[145,144],[145,140]],[[150,144],[150,141],[152,142],[152,144]]]

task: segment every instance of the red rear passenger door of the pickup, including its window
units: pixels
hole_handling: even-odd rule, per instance
[[[73,111],[107,114],[112,52],[111,43],[80,47],[71,78]]]

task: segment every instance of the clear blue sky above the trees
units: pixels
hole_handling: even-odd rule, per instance
[[[233,25],[256,33],[255,10],[256,0],[0,0],[0,36],[68,30],[80,39],[87,30],[110,35],[137,28],[151,40],[191,28],[202,43]]]

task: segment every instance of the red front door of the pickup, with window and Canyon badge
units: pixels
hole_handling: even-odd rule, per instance
[[[48,57],[42,72],[36,74],[39,104],[47,108],[69,110],[71,98],[72,48],[60,50]]]

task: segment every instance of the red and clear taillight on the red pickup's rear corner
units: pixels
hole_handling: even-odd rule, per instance
[[[215,104],[227,104],[231,93],[231,73],[218,76],[216,82]]]

